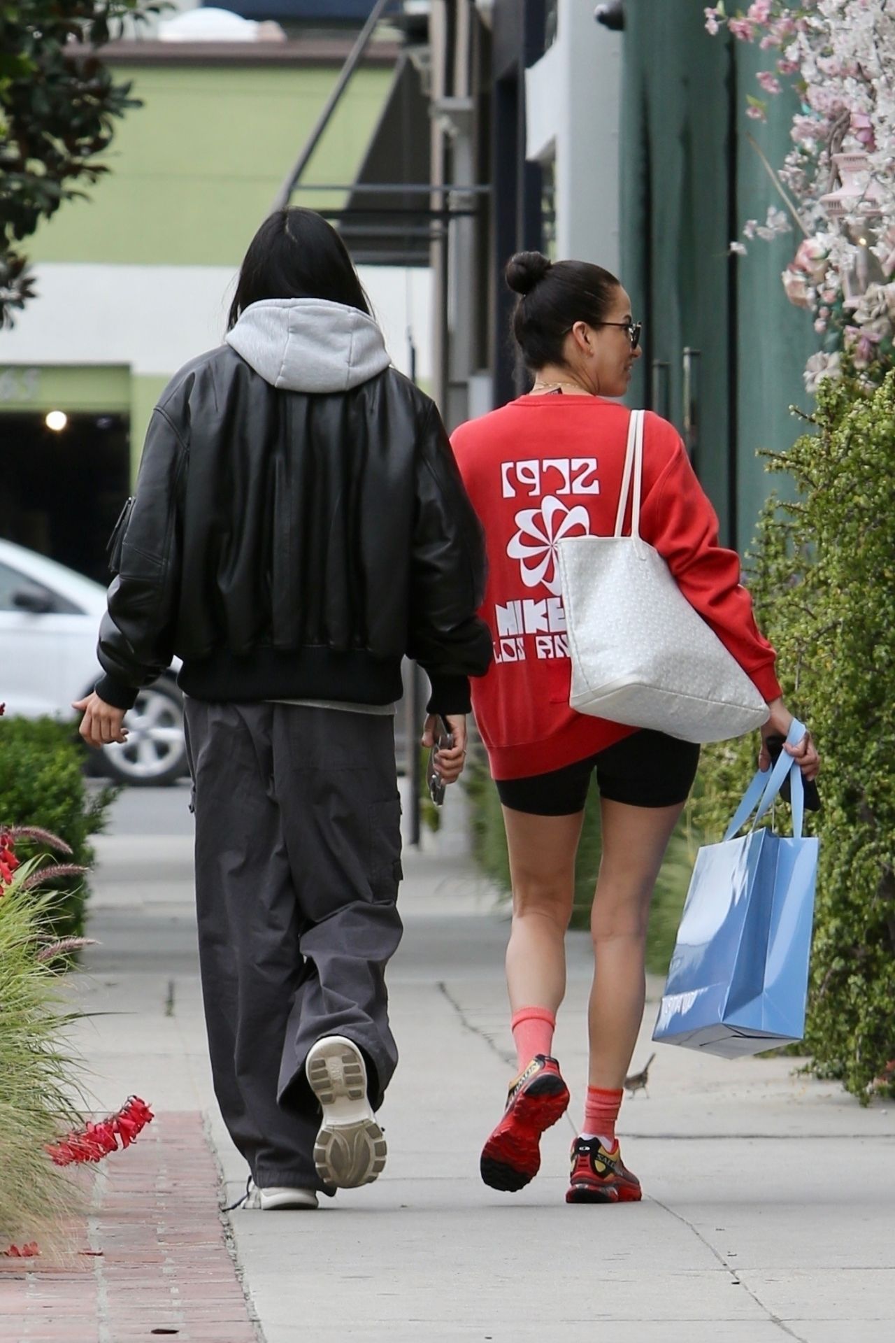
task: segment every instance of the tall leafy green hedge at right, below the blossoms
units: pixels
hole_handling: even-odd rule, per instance
[[[865,1100],[895,1058],[894,375],[871,393],[823,383],[812,424],[770,457],[800,501],[766,505],[750,587],[786,702],[824,757],[806,1045],[817,1072]],[[711,838],[753,755],[749,739],[706,752],[694,817]]]

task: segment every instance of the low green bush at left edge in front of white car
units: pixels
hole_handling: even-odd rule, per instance
[[[83,776],[85,753],[70,724],[52,719],[0,719],[0,826],[40,826],[64,839],[70,862],[93,862],[90,835],[106,823],[117,790],[89,792]],[[40,845],[16,845],[20,858],[42,851]],[[59,894],[52,902],[56,936],[83,932],[89,882],[83,877],[50,882]]]

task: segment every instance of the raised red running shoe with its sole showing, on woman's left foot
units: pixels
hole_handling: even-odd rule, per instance
[[[482,1148],[482,1179],[491,1189],[515,1193],[538,1174],[541,1133],[556,1124],[569,1104],[556,1058],[535,1054],[510,1082],[503,1119]]]

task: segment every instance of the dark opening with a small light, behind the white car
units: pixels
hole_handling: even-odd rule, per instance
[[[126,415],[0,416],[0,536],[109,583],[106,544],[130,486]]]

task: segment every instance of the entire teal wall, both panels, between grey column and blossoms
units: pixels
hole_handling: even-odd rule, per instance
[[[722,537],[745,549],[772,485],[757,453],[785,450],[797,435],[789,406],[806,404],[801,373],[816,337],[780,281],[796,234],[729,257],[746,219],[764,223],[768,205],[781,204],[749,136],[782,163],[794,95],[772,99],[768,125],[747,118],[746,94],[761,93],[755,71],[772,62],[710,38],[703,8],[625,8],[621,279],[645,324],[633,404],[653,404],[651,363],[667,364],[668,418],[682,428],[683,351],[700,351],[694,463]]]

